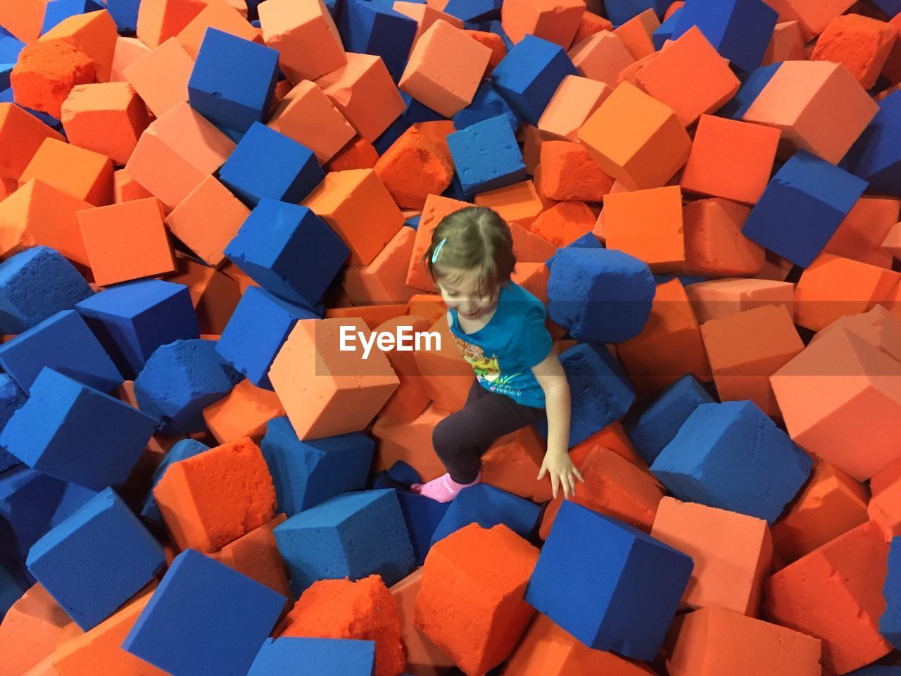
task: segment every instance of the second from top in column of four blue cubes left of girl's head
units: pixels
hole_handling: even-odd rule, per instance
[[[219,169],[223,184],[251,207],[264,197],[301,202],[323,178],[313,151],[259,122]]]

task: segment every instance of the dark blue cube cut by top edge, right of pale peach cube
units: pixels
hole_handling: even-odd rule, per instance
[[[342,0],[337,24],[344,50],[381,57],[391,78],[400,80],[416,34],[413,19],[390,3]]]

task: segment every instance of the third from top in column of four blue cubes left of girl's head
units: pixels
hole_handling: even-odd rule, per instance
[[[314,306],[350,249],[306,206],[262,199],[225,247],[225,255],[269,293]]]

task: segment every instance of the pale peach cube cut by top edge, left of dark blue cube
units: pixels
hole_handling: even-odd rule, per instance
[[[258,5],[267,47],[291,82],[320,78],[348,62],[332,14],[322,0],[265,0]]]

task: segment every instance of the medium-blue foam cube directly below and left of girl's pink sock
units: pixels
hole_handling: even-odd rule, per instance
[[[316,580],[381,575],[390,587],[414,566],[410,534],[391,489],[344,493],[298,512],[272,532],[297,596]]]

